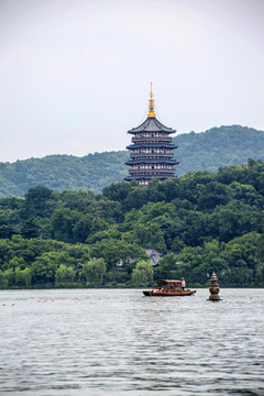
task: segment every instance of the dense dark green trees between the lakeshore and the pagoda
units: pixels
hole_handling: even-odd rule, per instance
[[[31,188],[0,199],[0,287],[264,285],[264,162],[102,194]],[[148,263],[145,249],[163,254]]]

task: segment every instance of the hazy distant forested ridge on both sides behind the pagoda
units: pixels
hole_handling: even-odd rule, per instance
[[[175,157],[180,162],[177,176],[193,170],[217,170],[221,166],[239,165],[248,158],[264,160],[264,132],[231,125],[213,128],[202,133],[185,133],[174,138],[178,145]],[[15,163],[0,163],[0,197],[23,197],[42,185],[56,191],[94,190],[100,193],[128,174],[124,162],[128,151],[73,155],[48,155]]]

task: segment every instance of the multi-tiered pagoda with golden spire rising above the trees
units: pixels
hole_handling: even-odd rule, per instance
[[[132,144],[127,146],[131,150],[130,161],[125,163],[130,166],[130,175],[124,180],[136,180],[142,186],[147,186],[153,178],[164,182],[175,177],[173,166],[179,164],[174,160],[173,150],[177,146],[172,143],[170,136],[176,130],[163,125],[156,119],[153,97],[151,82],[147,118],[140,127],[128,131],[133,138]]]

